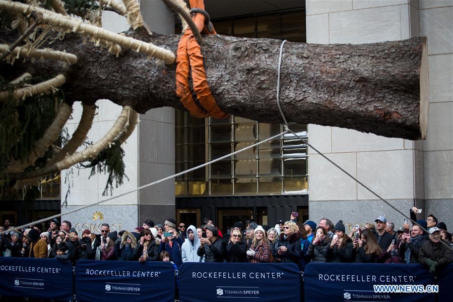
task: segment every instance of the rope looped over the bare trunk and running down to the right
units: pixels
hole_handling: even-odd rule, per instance
[[[367,186],[365,186],[362,182],[360,182],[356,177],[354,177],[353,175],[351,175],[350,173],[348,173],[345,169],[343,169],[341,166],[339,166],[337,163],[335,163],[333,160],[331,160],[330,158],[328,158],[326,155],[324,155],[322,152],[318,151],[316,148],[314,148],[311,144],[309,144],[306,140],[306,138],[303,138],[301,136],[299,136],[297,133],[295,133],[294,131],[292,131],[291,129],[289,129],[289,126],[288,126],[288,123],[286,122],[286,118],[285,118],[285,115],[283,114],[283,111],[282,111],[282,108],[280,107],[280,67],[281,67],[281,62],[282,62],[282,52],[283,52],[283,45],[285,44],[286,40],[284,40],[282,42],[282,44],[280,45],[280,54],[279,54],[279,63],[278,63],[278,71],[277,71],[277,106],[280,110],[280,114],[282,115],[282,118],[285,122],[285,127],[286,127],[286,131],[295,135],[299,140],[301,140],[304,144],[306,144],[308,147],[310,147],[311,149],[313,149],[314,151],[316,151],[316,153],[318,153],[319,155],[321,155],[322,157],[324,157],[325,159],[327,159],[330,163],[332,163],[334,166],[336,166],[337,168],[339,168],[341,171],[343,171],[346,175],[348,175],[349,177],[351,177],[352,179],[355,180],[355,182],[359,185],[361,185],[363,188],[365,188],[366,190],[368,190],[369,192],[371,192],[371,194],[373,194],[374,196],[376,196],[377,198],[379,198],[380,200],[382,200],[384,203],[386,203],[387,205],[389,205],[392,209],[394,209],[395,211],[397,211],[399,214],[403,215],[405,218],[407,218],[408,220],[410,220],[413,224],[415,225],[418,225],[424,232],[426,232],[429,236],[434,236],[433,234],[430,234],[428,232],[427,229],[425,229],[423,226],[421,226],[420,224],[417,223],[417,221],[414,221],[412,220],[410,217],[408,217],[407,215],[405,215],[403,212],[401,212],[400,210],[398,210],[396,207],[394,207],[390,202],[386,201],[385,199],[383,199],[382,197],[380,197],[377,193],[375,193],[373,190],[371,190],[370,188],[368,188]],[[443,244],[444,246],[446,246],[447,248],[449,248],[450,250],[453,251],[453,248],[451,248],[449,245],[445,244],[442,240],[439,240],[439,242],[441,244]]]

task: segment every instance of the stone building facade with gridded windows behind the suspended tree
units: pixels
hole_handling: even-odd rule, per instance
[[[224,34],[286,39],[306,35],[307,43],[320,44],[427,36],[430,108],[425,141],[390,139],[337,127],[297,127],[310,144],[401,211],[409,213],[416,205],[424,210],[420,218],[432,213],[439,221],[453,225],[453,1],[205,0],[205,4],[216,29]],[[175,30],[172,12],[160,1],[143,0],[141,7],[153,31]],[[293,16],[297,14],[305,26],[286,31],[294,27],[292,22],[298,24]],[[105,27],[116,31],[126,28],[116,17],[104,18]],[[108,101],[97,104],[90,140],[105,133],[120,111]],[[80,112],[74,114],[75,123],[77,114]],[[76,126],[68,125],[72,131]],[[172,108],[150,110],[141,115],[124,146],[129,180],[113,194],[270,137],[280,127],[239,116],[218,122],[195,120]],[[102,222],[115,224],[117,229],[134,228],[148,218],[162,222],[168,217],[186,224],[199,224],[203,217],[212,217],[223,230],[238,218],[273,225],[279,219],[288,219],[292,211],[299,211],[300,220],[309,217],[316,222],[327,217],[334,223],[343,219],[353,225],[374,221],[383,214],[397,226],[403,223],[400,214],[353,179],[291,140],[281,138],[274,145],[62,218],[78,223],[80,229],[92,228],[93,224],[96,228],[101,222],[96,212],[103,214]],[[286,157],[288,154],[290,157]],[[286,163],[290,167],[291,161],[295,164],[287,169]],[[68,173],[70,180],[61,181],[63,213],[106,198],[102,196],[106,175],[88,178],[89,171],[65,171],[62,179]],[[97,221],[93,220],[95,216]]]

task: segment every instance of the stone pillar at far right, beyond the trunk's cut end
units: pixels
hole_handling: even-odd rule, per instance
[[[453,228],[453,0],[420,0],[420,35],[428,37],[429,115],[423,142],[425,217]]]

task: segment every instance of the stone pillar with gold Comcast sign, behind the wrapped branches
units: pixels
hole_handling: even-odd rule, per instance
[[[174,33],[172,12],[161,1],[142,0],[141,12],[153,32]],[[114,32],[122,32],[129,28],[124,17],[112,12],[104,12],[102,21],[104,28]],[[105,55],[112,54],[105,52]],[[134,78],[131,78],[131,81],[133,80]],[[88,134],[88,140],[93,142],[105,135],[121,112],[121,107],[109,100],[98,100],[96,104],[97,114]],[[74,107],[74,118],[67,124],[70,135],[77,128],[82,113],[80,103],[76,103]],[[124,178],[124,184],[114,189],[112,196],[173,174],[174,109],[157,108],[141,114],[136,130],[123,144],[123,149],[125,174],[129,180]],[[72,168],[62,172],[61,211],[63,213],[109,197],[102,196],[107,175],[96,173],[89,178],[90,171],[91,169]],[[70,193],[65,203],[68,190]],[[101,223],[109,223],[112,230],[133,230],[145,219],[152,219],[158,223],[174,217],[174,205],[174,180],[168,180],[140,192],[73,214],[63,215],[62,220],[71,221],[78,231],[90,228],[99,233],[97,228]]]

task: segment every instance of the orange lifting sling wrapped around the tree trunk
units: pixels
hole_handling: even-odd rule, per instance
[[[190,0],[190,7],[200,10],[205,9],[203,0]],[[205,16],[196,13],[192,17],[200,32],[216,34],[214,28],[210,31],[205,27]],[[193,90],[197,94],[197,100],[193,99],[189,87],[189,70],[191,70]],[[176,95],[182,105],[195,117],[228,118],[229,114],[222,111],[214,99],[206,78],[205,67],[203,66],[203,55],[200,44],[195,39],[192,31],[188,28],[184,31],[178,43],[176,58]]]

